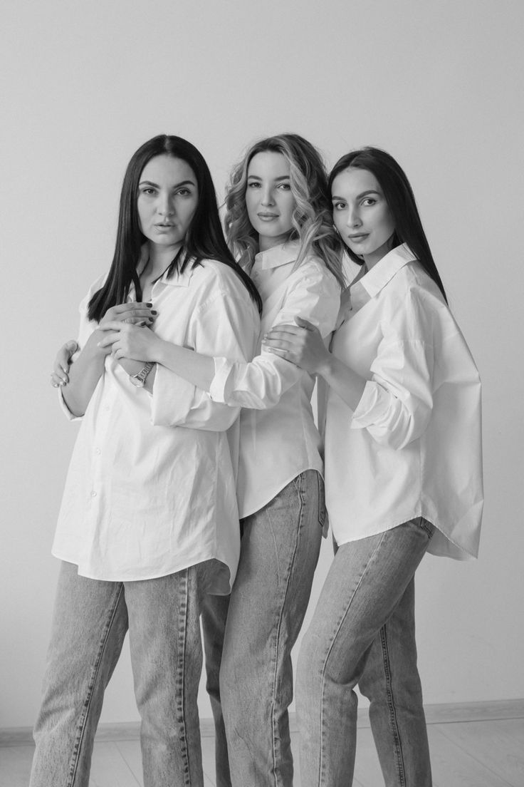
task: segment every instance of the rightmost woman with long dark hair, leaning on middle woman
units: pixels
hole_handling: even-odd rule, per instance
[[[335,164],[329,186],[335,227],[361,264],[331,351],[306,320],[265,339],[329,386],[326,504],[336,551],[299,655],[302,785],[351,783],[358,684],[387,787],[430,787],[414,575],[427,551],[477,555],[480,381],[398,163],[357,150]]]

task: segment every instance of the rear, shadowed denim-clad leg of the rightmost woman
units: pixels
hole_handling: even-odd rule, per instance
[[[369,719],[386,785],[430,787],[430,752],[416,667],[414,579],[373,641],[358,686],[371,703]]]

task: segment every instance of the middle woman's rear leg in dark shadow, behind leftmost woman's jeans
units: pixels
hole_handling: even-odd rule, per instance
[[[207,593],[203,599],[202,628],[203,648],[206,654],[206,689],[211,700],[211,711],[214,719],[214,759],[216,763],[217,787],[231,787],[219,685],[228,608],[229,596],[211,596]]]

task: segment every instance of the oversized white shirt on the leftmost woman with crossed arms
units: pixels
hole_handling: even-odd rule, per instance
[[[97,327],[86,308],[103,280],[80,306],[81,347]],[[226,265],[204,260],[163,275],[151,300],[161,338],[211,356],[252,357],[258,312]],[[106,357],[71,458],[53,555],[76,563],[80,575],[112,581],[215,559],[211,589],[229,593],[240,551],[238,413],[160,365],[148,393]]]

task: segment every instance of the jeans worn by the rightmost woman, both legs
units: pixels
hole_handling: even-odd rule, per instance
[[[302,787],[352,783],[357,684],[387,787],[431,787],[414,575],[433,532],[420,517],[337,550],[299,654]]]

